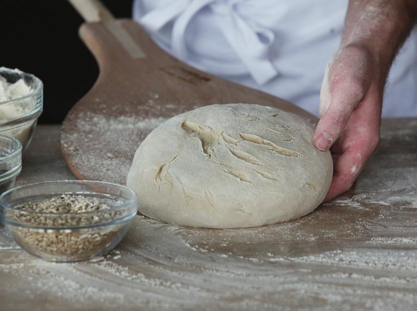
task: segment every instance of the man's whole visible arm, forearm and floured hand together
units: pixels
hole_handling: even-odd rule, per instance
[[[320,94],[314,144],[331,150],[328,201],[347,191],[379,141],[384,84],[416,17],[415,0],[350,0],[339,51]]]

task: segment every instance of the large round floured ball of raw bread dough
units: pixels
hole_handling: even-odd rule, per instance
[[[153,130],[136,151],[127,185],[139,211],[192,227],[243,228],[312,212],[332,181],[330,152],[314,128],[279,109],[201,107]]]

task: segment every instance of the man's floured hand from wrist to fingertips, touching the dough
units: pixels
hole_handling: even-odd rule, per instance
[[[347,46],[329,61],[314,144],[331,152],[334,176],[325,201],[347,191],[379,141],[384,78],[364,48]]]

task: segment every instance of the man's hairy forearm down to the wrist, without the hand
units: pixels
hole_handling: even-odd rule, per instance
[[[389,67],[416,19],[417,0],[350,0],[341,47],[361,45]]]

